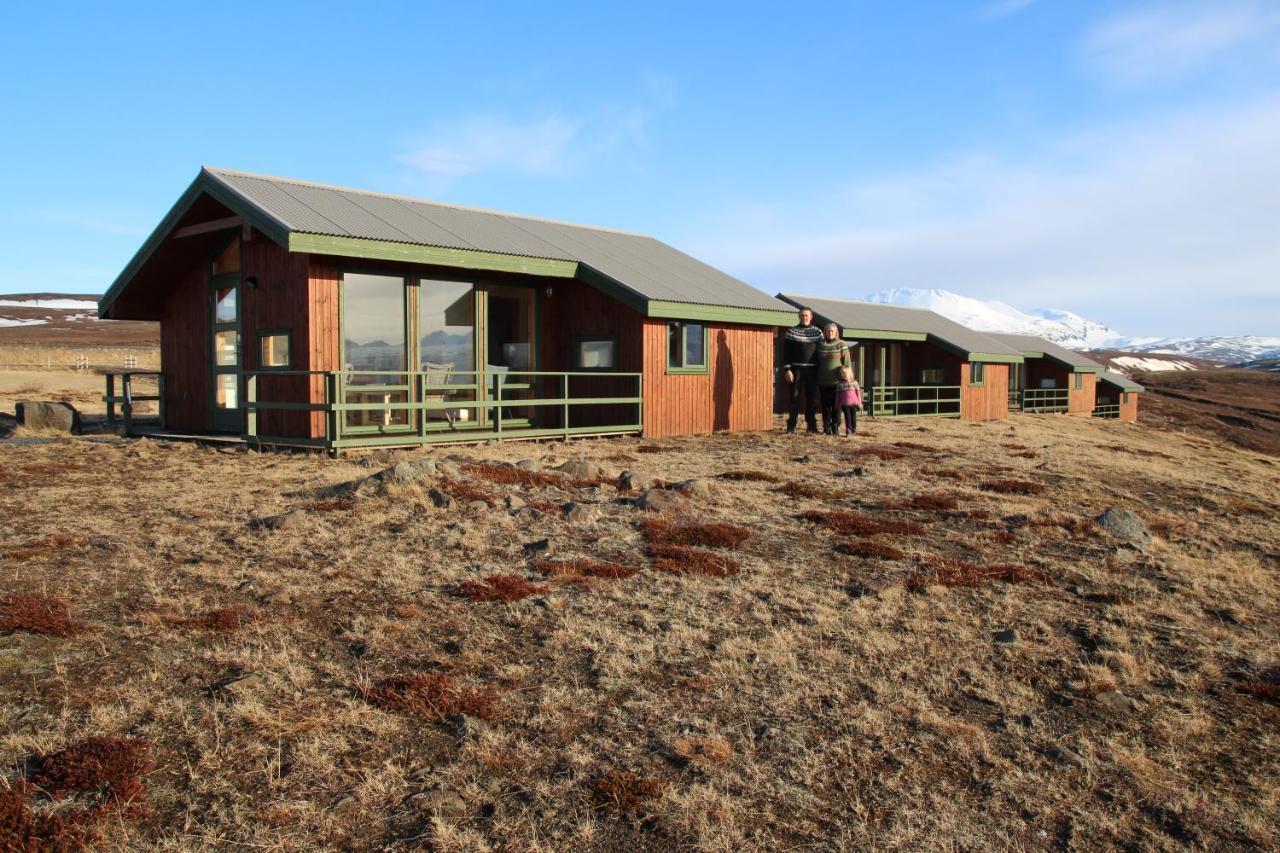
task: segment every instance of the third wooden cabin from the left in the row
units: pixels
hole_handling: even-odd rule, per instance
[[[1009,378],[1011,409],[1080,418],[1093,414],[1101,364],[1033,334],[989,334],[1023,355],[1021,370]]]

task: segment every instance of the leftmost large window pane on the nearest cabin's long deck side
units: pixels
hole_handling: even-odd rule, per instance
[[[348,370],[404,370],[404,279],[347,273],[342,320]],[[352,382],[399,384],[403,377],[352,377]]]

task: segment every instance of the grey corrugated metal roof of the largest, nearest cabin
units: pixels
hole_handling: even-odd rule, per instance
[[[205,174],[285,232],[577,261],[646,300],[790,311],[645,234],[229,169],[206,168]]]

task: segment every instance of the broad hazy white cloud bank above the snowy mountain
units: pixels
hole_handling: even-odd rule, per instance
[[[1280,329],[1280,99],[753,205],[698,246],[771,291],[942,287],[1128,334]]]

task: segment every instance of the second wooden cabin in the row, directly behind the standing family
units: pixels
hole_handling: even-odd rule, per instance
[[[852,350],[868,414],[877,418],[1009,416],[1016,350],[927,309],[778,293],[814,323],[835,323]],[[794,319],[792,319],[794,323]]]

